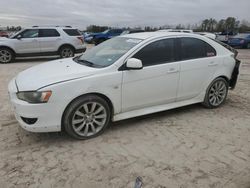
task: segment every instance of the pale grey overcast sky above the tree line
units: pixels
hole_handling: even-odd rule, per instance
[[[228,16],[250,21],[250,0],[0,0],[1,26],[162,26]]]

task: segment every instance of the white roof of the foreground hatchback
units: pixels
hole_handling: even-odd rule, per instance
[[[143,33],[133,33],[133,34],[126,34],[120,37],[128,37],[128,38],[135,38],[135,39],[149,39],[149,38],[160,38],[160,37],[196,37],[196,38],[204,38],[201,35],[193,34],[193,33],[181,33],[181,32],[143,32]]]

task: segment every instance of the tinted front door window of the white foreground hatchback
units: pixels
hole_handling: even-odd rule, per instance
[[[143,66],[173,62],[175,60],[174,39],[163,39],[152,42],[142,48],[133,57],[140,59]]]

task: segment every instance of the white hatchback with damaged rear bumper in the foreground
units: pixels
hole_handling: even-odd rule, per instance
[[[9,83],[9,94],[24,129],[65,129],[86,139],[110,121],[194,103],[218,107],[236,84],[239,64],[231,51],[197,34],[136,33],[29,68]]]

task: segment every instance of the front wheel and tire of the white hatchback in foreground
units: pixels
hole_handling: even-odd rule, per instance
[[[93,118],[91,114],[87,114],[85,111],[85,105],[87,105],[88,110],[92,111],[93,106],[91,106],[91,104],[94,104],[94,103],[96,103],[96,105],[94,107],[93,112],[97,112],[99,108],[103,107],[103,111],[100,111],[99,113],[96,113],[96,114],[92,113],[92,115],[94,114],[93,116],[95,116],[96,118],[95,117]],[[82,97],[75,99],[73,102],[71,102],[70,105],[65,110],[63,118],[62,118],[62,126],[64,126],[65,131],[70,136],[76,139],[85,140],[85,139],[94,138],[102,134],[104,130],[106,129],[106,127],[109,125],[110,117],[111,117],[110,111],[111,110],[107,101],[104,100],[103,98],[97,95],[82,96]],[[103,114],[100,115],[102,112],[103,114],[105,114],[104,112],[106,112],[105,114],[106,119],[104,121],[101,121],[101,120],[97,121],[98,116],[104,116]],[[92,118],[94,119],[92,120],[92,122],[90,120],[90,116],[92,116]],[[79,122],[75,123],[74,125],[73,124],[74,121],[75,122],[79,121]],[[99,124],[96,124],[95,121],[97,121],[98,123],[102,123],[103,125],[100,126]],[[77,131],[77,129],[81,126],[83,127],[80,128],[79,131]],[[92,126],[95,127],[96,131],[93,130]],[[87,129],[87,134],[85,135],[86,129]]]

